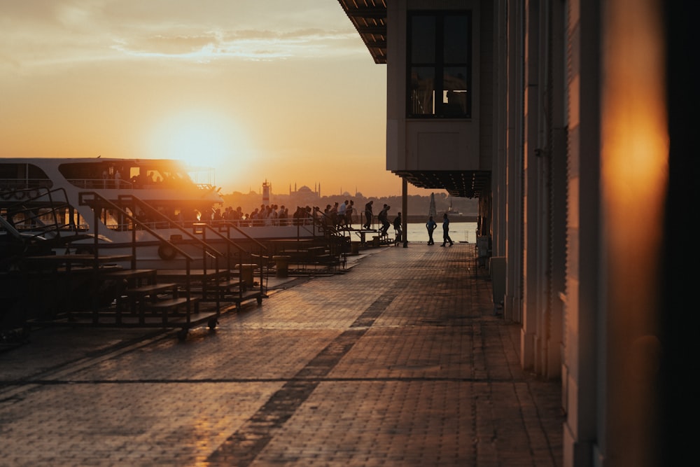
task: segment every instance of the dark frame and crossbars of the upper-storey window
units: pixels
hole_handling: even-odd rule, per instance
[[[447,62],[444,57],[445,29],[444,23],[446,18],[454,18],[465,16],[468,33],[465,43],[465,60]],[[434,53],[432,61],[413,61],[414,43],[412,34],[414,28],[414,18],[424,17],[435,21],[434,37]],[[414,10],[407,14],[407,50],[406,50],[406,116],[407,118],[427,118],[427,119],[454,119],[454,118],[471,118],[472,117],[472,43],[473,43],[473,22],[472,12],[469,10]],[[423,50],[424,52],[425,50]],[[419,50],[416,48],[416,53]],[[449,98],[450,85],[446,85],[445,77],[454,78],[446,73],[446,70],[465,71],[466,76],[463,77],[463,90],[451,93],[452,98]],[[432,71],[432,82],[430,78],[421,79],[419,73],[414,74],[414,71],[427,71],[427,76]],[[458,75],[459,76],[459,75]],[[461,79],[462,77],[459,76]],[[454,88],[454,86],[453,86]],[[457,86],[460,88],[460,86]],[[456,96],[456,98],[454,97]],[[444,102],[449,99],[458,104]],[[453,101],[454,99],[454,101]]]

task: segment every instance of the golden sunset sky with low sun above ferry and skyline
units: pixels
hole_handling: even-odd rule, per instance
[[[0,88],[0,157],[177,158],[215,167],[222,193],[401,193],[386,66],[335,0],[2,0]]]

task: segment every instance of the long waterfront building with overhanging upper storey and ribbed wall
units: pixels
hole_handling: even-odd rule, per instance
[[[689,398],[687,2],[339,3],[386,64],[386,167],[404,199],[412,183],[479,200],[521,365],[561,380],[563,465],[688,449],[671,417]]]

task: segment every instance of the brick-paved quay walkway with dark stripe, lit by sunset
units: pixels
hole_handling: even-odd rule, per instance
[[[374,250],[216,330],[37,330],[0,354],[0,466],[561,466],[472,244]]]

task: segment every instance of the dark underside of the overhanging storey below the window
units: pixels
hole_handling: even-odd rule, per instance
[[[491,172],[488,170],[397,170],[393,173],[418,188],[447,190],[454,197],[477,198],[491,191]]]

